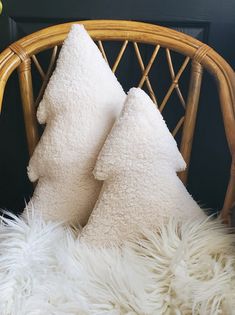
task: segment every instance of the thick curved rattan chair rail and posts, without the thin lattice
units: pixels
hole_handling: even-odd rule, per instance
[[[191,36],[166,27],[124,20],[75,21],[42,29],[6,48],[0,54],[0,110],[6,82],[11,73],[18,68],[30,153],[37,142],[36,128],[31,127],[31,124],[35,126],[36,123],[35,118],[32,118],[33,110],[30,109],[34,103],[33,94],[30,92],[32,89],[30,58],[41,51],[61,45],[71,25],[75,23],[83,24],[94,40],[159,45],[192,59],[191,81],[182,133],[183,144],[181,143],[181,153],[187,163],[190,160],[202,69],[205,68],[216,79],[226,138],[232,156],[230,182],[223,207],[224,217],[227,218],[228,209],[235,201],[235,75],[229,64],[211,47]],[[142,83],[147,79],[145,71],[142,79]],[[173,83],[176,86],[177,80]],[[181,176],[181,179],[186,182],[186,175]]]

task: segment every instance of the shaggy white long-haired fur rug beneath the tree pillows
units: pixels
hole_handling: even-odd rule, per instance
[[[235,314],[234,236],[218,221],[171,219],[122,248],[89,248],[77,234],[2,219],[1,315]]]

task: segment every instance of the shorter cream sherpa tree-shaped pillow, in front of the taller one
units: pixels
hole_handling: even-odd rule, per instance
[[[131,89],[94,169],[104,184],[82,239],[121,244],[165,218],[204,217],[176,174],[184,168],[159,110],[144,91]]]

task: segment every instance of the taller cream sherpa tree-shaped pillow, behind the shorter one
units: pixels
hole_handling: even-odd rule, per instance
[[[46,220],[84,225],[101,182],[92,170],[125,93],[82,25],[65,40],[37,112],[45,131],[29,162],[32,200]]]

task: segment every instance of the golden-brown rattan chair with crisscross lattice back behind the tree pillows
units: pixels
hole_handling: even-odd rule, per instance
[[[123,42],[121,50],[112,66],[113,72],[117,70],[127,45],[133,45],[142,72],[138,86],[142,87],[145,84],[149,95],[155,103],[157,103],[157,101],[149,78],[149,71],[160,47],[166,50],[172,84],[161,104],[157,105],[160,110],[163,110],[174,90],[178,93],[182,105],[185,105],[185,113],[173,130],[173,135],[176,135],[178,130],[182,128],[180,150],[187,164],[190,163],[203,68],[209,71],[216,79],[226,138],[232,157],[230,180],[221,211],[223,220],[226,223],[230,223],[230,209],[235,201],[235,77],[231,67],[206,44],[168,28],[146,23],[114,20],[79,21],[74,23],[82,23],[85,25],[89,34],[97,41],[105,59],[106,54],[102,41]],[[33,33],[11,44],[0,54],[0,109],[6,82],[12,72],[17,69],[30,155],[39,139],[35,108],[42,98],[47,82],[53,71],[58,46],[62,44],[67,36],[71,24],[73,23],[56,25]],[[141,43],[151,44],[155,47],[146,65],[143,63],[139,49]],[[47,49],[52,49],[52,55],[48,70],[45,73],[37,59],[37,54]],[[185,56],[184,62],[177,73],[175,73],[173,67],[171,51]],[[33,96],[31,61],[35,64],[43,81],[39,95],[35,100]],[[191,74],[189,90],[187,101],[184,101],[178,81],[190,61]],[[186,183],[187,175],[187,170],[179,174],[183,183]]]

